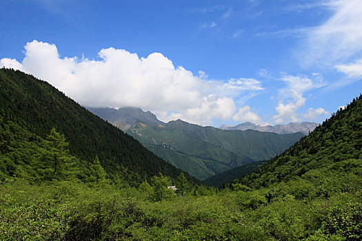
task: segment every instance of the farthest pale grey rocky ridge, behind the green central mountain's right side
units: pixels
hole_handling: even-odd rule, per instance
[[[305,135],[308,135],[309,132],[312,132],[315,127],[319,124],[314,122],[302,122],[302,123],[289,123],[285,125],[255,125],[250,122],[241,123],[236,126],[227,126],[221,125],[220,129],[239,129],[245,131],[247,129],[254,129],[259,132],[274,132],[278,134],[290,134],[296,132],[302,132]]]

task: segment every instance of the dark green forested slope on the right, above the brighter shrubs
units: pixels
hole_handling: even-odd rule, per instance
[[[338,175],[350,172],[361,165],[361,158],[362,95],[239,182],[259,188],[296,177],[315,181],[321,176],[325,178],[328,171],[336,171]],[[335,181],[341,182],[338,178]]]

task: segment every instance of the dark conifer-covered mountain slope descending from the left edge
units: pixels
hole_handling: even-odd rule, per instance
[[[2,157],[20,146],[10,141],[17,129],[29,133],[28,141],[38,137],[46,139],[55,127],[69,143],[70,155],[88,163],[98,156],[109,175],[117,176],[129,185],[139,185],[160,172],[175,179],[181,172],[46,81],[20,71],[0,69],[0,119],[3,128],[8,129],[0,143]],[[26,156],[2,159],[0,166],[11,175],[14,171],[8,171],[7,165],[12,167],[11,163],[17,165],[21,162],[26,165],[23,158]],[[197,182],[190,176],[188,178]]]

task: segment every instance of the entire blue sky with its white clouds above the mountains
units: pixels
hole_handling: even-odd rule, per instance
[[[0,0],[0,67],[162,121],[324,121],[362,90],[362,1]]]

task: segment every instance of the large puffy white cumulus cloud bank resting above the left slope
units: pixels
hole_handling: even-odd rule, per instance
[[[255,79],[213,81],[204,72],[194,76],[161,53],[145,58],[114,48],[99,51],[100,60],[59,56],[57,46],[32,41],[23,61],[1,59],[0,66],[28,72],[68,96],[92,107],[141,107],[163,121],[182,118],[201,125],[213,118],[232,118],[233,98],[243,91],[262,90]],[[236,91],[237,90],[237,91]]]

